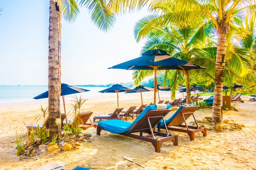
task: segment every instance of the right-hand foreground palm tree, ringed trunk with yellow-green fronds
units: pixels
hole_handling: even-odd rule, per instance
[[[230,58],[230,51],[233,46],[229,34],[231,29],[242,26],[246,14],[255,14],[256,5],[254,0],[116,0],[111,1],[110,10],[116,13],[132,11],[135,8],[143,8],[145,3],[149,3],[149,8],[162,6],[155,10],[160,13],[166,9],[172,9],[172,17],[163,14],[159,22],[163,24],[171,23],[175,20],[182,21],[180,24],[186,26],[187,23],[197,25],[195,20],[198,17],[207,17],[215,25],[217,39],[217,53],[215,60],[215,89],[212,110],[212,122],[221,123],[222,121],[222,87],[224,82],[224,67],[226,58]],[[115,3],[113,3],[115,2]],[[194,22],[195,20],[195,22]],[[248,31],[248,30],[247,30]],[[245,34],[238,34],[236,39],[244,37]]]

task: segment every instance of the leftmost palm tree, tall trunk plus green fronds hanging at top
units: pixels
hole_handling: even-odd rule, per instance
[[[61,94],[61,19],[72,23],[79,14],[79,6],[75,0],[50,0],[49,6],[49,133],[50,138],[60,133],[55,119],[60,118]],[[96,26],[108,31],[115,22],[115,16],[102,0],[81,0],[79,3],[91,12],[91,20]],[[60,128],[60,127],[59,127]]]

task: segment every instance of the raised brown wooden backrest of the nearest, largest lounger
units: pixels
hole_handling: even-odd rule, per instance
[[[135,133],[135,132],[147,132],[151,128],[155,127],[161,119],[163,119],[164,116],[166,116],[171,110],[169,109],[163,109],[163,110],[152,110],[148,111],[148,113],[143,116],[142,119],[140,119],[139,122],[137,122],[128,133]],[[148,122],[148,118],[150,121],[150,126]]]

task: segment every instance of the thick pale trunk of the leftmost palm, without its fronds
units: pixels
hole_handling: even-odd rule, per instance
[[[55,119],[60,118],[61,97],[61,0],[58,0],[59,11],[56,10],[54,0],[50,0],[49,7],[49,56],[48,56],[48,91],[49,91],[49,135],[52,139],[60,134],[61,127]]]

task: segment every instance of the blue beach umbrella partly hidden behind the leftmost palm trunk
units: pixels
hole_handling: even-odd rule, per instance
[[[66,108],[65,108],[65,99],[64,96],[69,95],[69,94],[76,94],[76,93],[83,93],[89,90],[83,89],[83,88],[76,88],[71,85],[67,85],[65,83],[61,83],[61,96],[63,99],[63,105],[64,105],[64,111],[66,113]],[[33,99],[44,99],[48,98],[48,91],[39,94],[38,96],[35,96]]]

